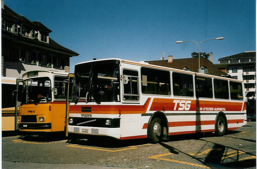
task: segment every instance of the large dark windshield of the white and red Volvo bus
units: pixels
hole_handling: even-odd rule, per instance
[[[72,102],[120,101],[119,70],[117,61],[76,65]]]

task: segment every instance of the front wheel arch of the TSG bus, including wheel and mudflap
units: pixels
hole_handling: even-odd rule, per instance
[[[147,137],[151,139],[152,143],[159,143],[162,139],[169,140],[168,130],[168,120],[165,114],[154,112],[148,121]]]

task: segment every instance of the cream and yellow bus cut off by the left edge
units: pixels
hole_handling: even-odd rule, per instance
[[[16,80],[20,78],[1,77],[2,90],[2,131],[18,130],[15,125],[15,100],[13,91],[16,90]]]

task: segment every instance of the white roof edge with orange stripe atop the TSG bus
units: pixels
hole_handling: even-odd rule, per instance
[[[237,82],[243,82],[241,80],[232,79],[232,78],[215,76],[215,75],[211,75],[211,74],[203,74],[203,73],[198,73],[198,72],[191,72],[191,71],[187,71],[187,70],[169,68],[169,67],[164,67],[164,66],[157,66],[157,65],[152,65],[152,64],[149,64],[149,63],[143,62],[143,61],[135,62],[135,61],[119,59],[119,58],[96,59],[96,60],[90,60],[90,61],[86,61],[86,62],[81,62],[81,63],[78,63],[76,65],[84,64],[84,63],[90,63],[90,62],[105,61],[105,60],[119,60],[121,63],[126,63],[126,64],[133,64],[133,65],[138,65],[138,66],[146,66],[146,67],[151,67],[151,68],[164,69],[164,70],[170,70],[170,71],[175,71],[175,72],[182,72],[182,73],[187,73],[187,74],[195,74],[195,75],[206,76],[206,77],[211,77],[211,78],[219,78],[219,79],[224,79],[224,80],[233,80],[233,81],[237,81]]]

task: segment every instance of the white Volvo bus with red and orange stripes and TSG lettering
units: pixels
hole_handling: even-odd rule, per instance
[[[76,64],[73,76],[69,135],[158,143],[186,133],[222,136],[246,124],[240,80],[115,58]]]

